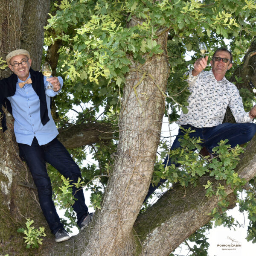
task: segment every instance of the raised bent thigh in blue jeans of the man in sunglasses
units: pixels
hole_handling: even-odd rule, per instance
[[[216,147],[220,140],[228,139],[228,144],[235,147],[250,141],[256,133],[254,123],[224,123],[212,128],[203,128],[204,143],[209,152]]]

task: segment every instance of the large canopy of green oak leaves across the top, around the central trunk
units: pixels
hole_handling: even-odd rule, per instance
[[[168,57],[171,67],[167,95],[172,120],[177,119],[174,105],[186,106],[188,92],[182,79],[186,52],[198,51],[198,41],[205,41],[212,54],[218,45],[230,39],[235,63],[247,50],[255,35],[252,3],[247,1],[61,1],[46,26],[46,44],[61,40],[58,72],[65,76],[64,98],[58,104],[66,113],[72,104],[93,102],[109,108],[117,107],[121,84],[131,63],[142,65],[152,54],[163,51],[157,36],[169,29]],[[248,9],[250,8],[250,9]],[[239,20],[239,21],[238,21]],[[247,22],[243,21],[246,20]],[[127,26],[128,23],[128,26]],[[132,23],[133,26],[129,26]],[[135,23],[135,26],[134,26]],[[73,95],[71,99],[69,95]],[[68,105],[67,105],[68,104]],[[184,108],[183,108],[184,110]],[[96,107],[83,118],[93,121]]]

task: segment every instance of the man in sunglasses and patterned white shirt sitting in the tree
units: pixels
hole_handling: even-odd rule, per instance
[[[183,137],[184,129],[191,129],[190,137],[200,137],[203,140],[202,155],[212,155],[212,148],[218,145],[220,140],[228,139],[228,144],[235,147],[250,141],[256,133],[256,125],[252,123],[256,117],[255,106],[249,111],[244,111],[239,90],[235,84],[230,83],[225,74],[232,67],[232,53],[226,48],[218,48],[213,54],[210,64],[212,70],[205,71],[208,56],[195,61],[194,69],[187,72],[190,96],[188,98],[188,113],[181,113],[177,124],[180,125],[178,135],[174,140],[171,150],[180,147],[180,137]],[[227,107],[233,113],[237,123],[222,123]],[[179,166],[172,162],[169,156],[163,164]],[[160,180],[157,186],[149,187],[147,198],[165,182]],[[144,201],[144,202],[145,202]]]

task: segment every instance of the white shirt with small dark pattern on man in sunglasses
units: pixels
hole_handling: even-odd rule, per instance
[[[192,125],[197,128],[213,127],[223,122],[227,107],[233,113],[237,123],[251,122],[249,112],[244,111],[242,98],[235,84],[225,77],[217,81],[210,71],[202,71],[198,76],[192,76],[192,70],[187,72],[189,78],[188,113],[181,113],[177,121],[179,125]]]

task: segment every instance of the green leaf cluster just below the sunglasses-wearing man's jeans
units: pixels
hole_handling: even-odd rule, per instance
[[[227,140],[220,141],[219,145],[213,148],[216,157],[209,160],[208,156],[202,157],[195,152],[201,150],[200,143],[202,143],[202,140],[189,137],[189,133],[192,132],[189,128],[184,137],[179,139],[180,148],[164,153],[169,155],[172,164],[164,167],[161,165],[162,160],[160,160],[160,166],[154,172],[153,182],[157,184],[160,179],[168,179],[170,183],[179,182],[182,186],[188,186],[189,183],[192,183],[196,186],[198,177],[207,174],[209,177],[215,177],[220,182],[225,180],[225,183],[230,185],[232,189],[242,187],[245,182],[238,177],[234,169],[239,162],[239,154],[244,151],[243,148],[238,145],[235,148],[230,148],[230,145],[226,144]],[[219,195],[223,199],[226,196],[225,187],[222,183],[218,184],[216,191],[214,191],[210,180],[204,187],[207,189],[207,196]]]

